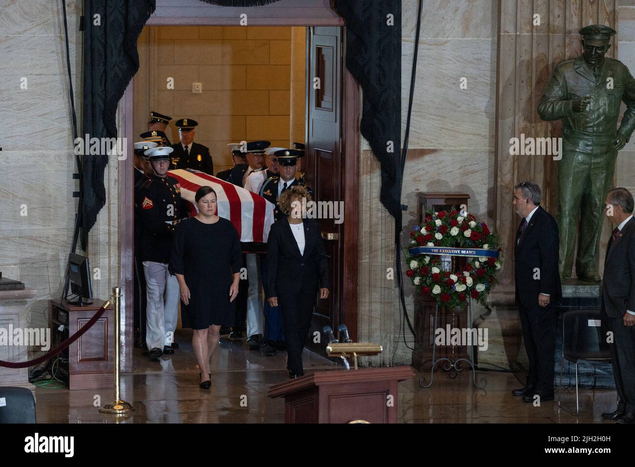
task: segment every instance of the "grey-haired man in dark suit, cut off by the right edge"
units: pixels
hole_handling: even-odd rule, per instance
[[[620,401],[602,414],[621,423],[635,421],[635,219],[630,191],[618,187],[605,199],[606,217],[617,224],[606,245],[601,311]]]

